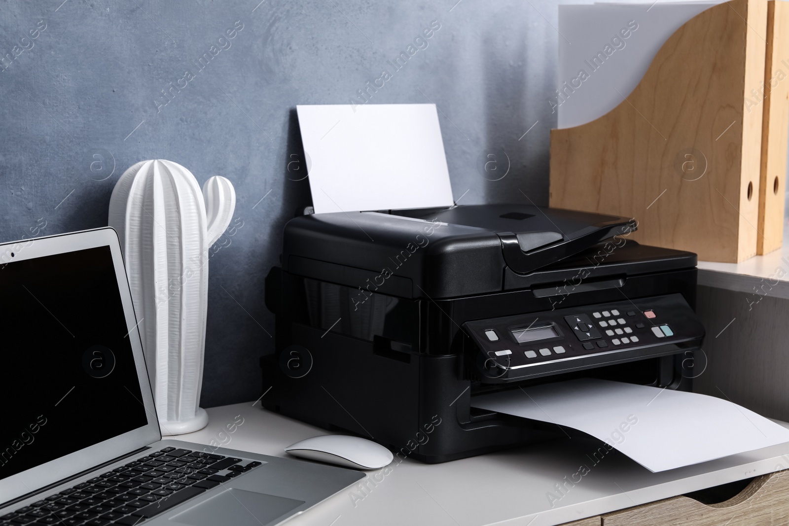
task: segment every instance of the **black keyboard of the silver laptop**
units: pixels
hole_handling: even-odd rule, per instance
[[[260,464],[166,447],[6,513],[0,517],[0,526],[142,524]]]

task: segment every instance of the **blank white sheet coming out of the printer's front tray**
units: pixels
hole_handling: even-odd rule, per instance
[[[789,430],[730,401],[608,380],[483,394],[471,404],[584,431],[652,472],[789,442]]]

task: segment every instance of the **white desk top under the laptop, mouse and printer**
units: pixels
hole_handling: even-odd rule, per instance
[[[328,431],[252,406],[252,402],[207,409],[208,427],[179,440],[287,457],[286,446]],[[226,425],[244,420],[234,433]],[[784,424],[789,427],[789,424]],[[520,524],[550,526],[616,509],[697,491],[789,468],[789,443],[667,472],[652,473],[611,451],[594,464],[590,458],[602,442],[563,438],[532,446],[488,453],[444,464],[406,459],[368,472],[368,489],[345,491],[288,522],[322,524],[436,524],[477,526]],[[560,494],[556,484],[571,479],[581,464],[589,472]],[[372,480],[371,480],[372,479]],[[553,492],[558,501],[548,500]]]

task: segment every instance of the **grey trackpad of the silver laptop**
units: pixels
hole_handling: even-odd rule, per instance
[[[234,526],[260,526],[277,517],[282,517],[291,509],[304,504],[293,498],[277,497],[254,491],[230,488],[209,498],[205,502],[170,517],[191,526],[215,526],[234,524]]]

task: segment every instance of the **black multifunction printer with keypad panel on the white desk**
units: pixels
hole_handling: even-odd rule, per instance
[[[294,218],[266,280],[262,404],[436,463],[564,436],[477,394],[579,376],[687,390],[696,255],[636,227],[520,204]]]

